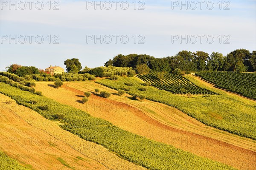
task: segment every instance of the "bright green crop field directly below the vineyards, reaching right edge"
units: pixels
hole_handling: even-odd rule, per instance
[[[256,102],[251,100],[230,96],[218,90],[214,91],[220,95],[193,95],[190,98],[154,87],[140,91],[142,81],[136,77],[122,77],[118,81],[101,79],[96,82],[115,90],[129,88],[128,94],[144,94],[148,100],[175,107],[206,125],[256,139]],[[126,82],[132,82],[133,86],[125,85]]]

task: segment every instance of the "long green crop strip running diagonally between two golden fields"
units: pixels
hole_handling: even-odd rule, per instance
[[[63,118],[64,124],[61,125],[62,128],[80,136],[82,139],[101,144],[119,154],[122,158],[141,164],[143,167],[163,170],[177,168],[233,169],[225,164],[129,133],[110,122],[91,117],[84,111],[60,104],[45,96],[21,91],[2,82],[0,85],[1,93],[12,97],[18,104],[32,108],[49,119],[54,119],[56,113],[63,113],[65,117]],[[38,100],[38,103],[29,104],[31,99]],[[38,108],[42,105],[48,105],[48,110]]]

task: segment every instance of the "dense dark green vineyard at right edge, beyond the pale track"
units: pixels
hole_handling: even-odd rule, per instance
[[[195,74],[202,79],[250,99],[256,100],[256,74],[237,72],[199,72]]]

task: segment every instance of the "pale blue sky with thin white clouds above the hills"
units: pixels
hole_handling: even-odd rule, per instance
[[[118,54],[256,50],[255,0],[0,0],[0,69],[103,66]]]

